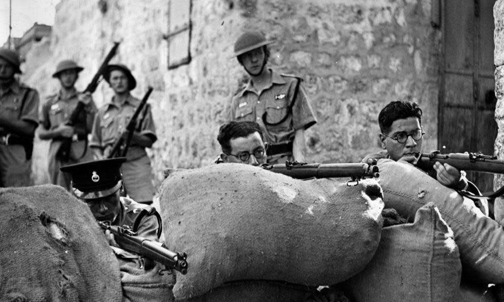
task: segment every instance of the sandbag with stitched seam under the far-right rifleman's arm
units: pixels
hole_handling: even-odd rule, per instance
[[[379,160],[385,207],[413,217],[432,202],[454,232],[464,274],[479,283],[504,283],[504,228],[468,198],[441,185],[413,165]]]

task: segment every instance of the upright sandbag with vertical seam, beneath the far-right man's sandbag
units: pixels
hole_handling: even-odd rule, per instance
[[[355,302],[459,301],[461,271],[453,232],[429,203],[413,223],[383,228],[373,259],[346,283]]]

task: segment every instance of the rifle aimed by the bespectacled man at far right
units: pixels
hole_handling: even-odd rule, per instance
[[[441,154],[439,150],[435,150],[431,153],[416,153],[415,158],[416,160],[413,162],[413,165],[424,171],[433,169],[435,162],[439,162],[440,164],[449,164],[458,170],[504,174],[503,160],[498,160],[495,156],[484,155],[482,153]],[[501,195],[504,195],[504,186],[487,195],[471,195],[467,197],[481,199],[495,198]]]

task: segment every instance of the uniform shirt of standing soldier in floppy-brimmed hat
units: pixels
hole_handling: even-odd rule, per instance
[[[105,149],[108,145],[113,145],[116,139],[126,131],[126,126],[138,105],[140,105],[140,100],[130,95],[121,106],[114,103],[113,98],[101,107],[94,119],[89,146]],[[154,138],[154,141],[157,139],[150,106],[146,105],[138,116],[136,130],[140,134],[150,135]],[[139,159],[143,156],[147,156],[144,147],[133,144],[129,146],[128,161]]]

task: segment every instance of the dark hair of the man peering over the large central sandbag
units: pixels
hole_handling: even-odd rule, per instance
[[[222,148],[222,152],[225,154],[231,153],[230,140],[237,137],[247,137],[254,132],[259,132],[261,139],[264,140],[262,135],[261,127],[256,122],[241,121],[235,122],[231,121],[227,124],[220,126],[219,134],[217,135],[217,140]]]

